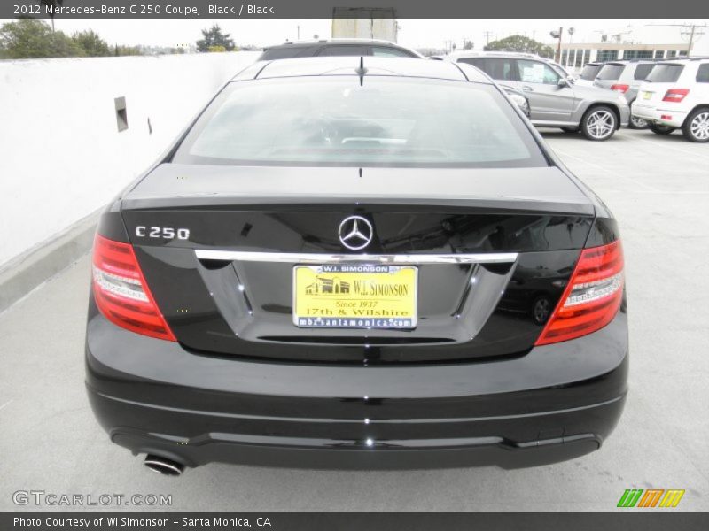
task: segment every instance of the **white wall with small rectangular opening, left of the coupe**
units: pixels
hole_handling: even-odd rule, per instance
[[[106,204],[256,55],[0,61],[0,269]]]

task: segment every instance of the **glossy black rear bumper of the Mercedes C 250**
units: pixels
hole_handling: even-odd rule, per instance
[[[113,443],[186,466],[534,466],[600,447],[627,392],[627,319],[519,358],[323,366],[192,354],[102,316],[87,387]]]

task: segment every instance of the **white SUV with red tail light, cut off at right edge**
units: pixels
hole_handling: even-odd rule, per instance
[[[709,142],[709,58],[655,65],[638,89],[631,112],[658,135],[682,127],[690,142]]]

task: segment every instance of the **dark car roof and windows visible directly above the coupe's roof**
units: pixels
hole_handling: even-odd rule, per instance
[[[261,61],[273,59],[375,56],[382,58],[423,58],[416,50],[399,44],[376,39],[320,39],[314,41],[285,42],[267,46],[259,56]]]

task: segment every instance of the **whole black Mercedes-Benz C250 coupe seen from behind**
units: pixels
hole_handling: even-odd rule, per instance
[[[259,62],[101,216],[87,387],[162,473],[533,466],[627,393],[616,221],[469,65]]]

